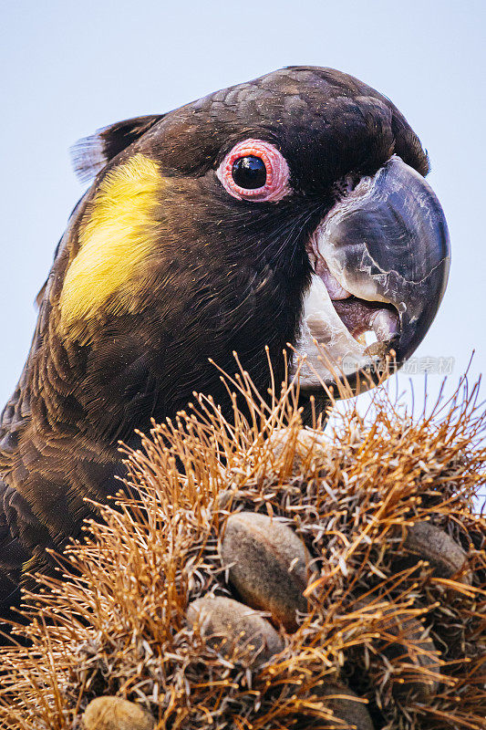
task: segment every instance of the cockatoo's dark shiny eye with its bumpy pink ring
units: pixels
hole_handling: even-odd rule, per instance
[[[216,175],[237,200],[274,203],[290,193],[290,171],[283,154],[274,144],[263,140],[235,144]]]

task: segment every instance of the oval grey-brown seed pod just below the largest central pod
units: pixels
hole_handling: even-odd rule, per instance
[[[229,657],[246,654],[258,665],[284,649],[272,624],[237,600],[223,596],[197,599],[186,615],[191,627],[199,625],[202,636]]]

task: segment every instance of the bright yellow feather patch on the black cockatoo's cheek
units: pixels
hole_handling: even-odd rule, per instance
[[[153,248],[163,183],[157,163],[140,153],[101,182],[81,224],[78,254],[61,292],[61,322],[66,328],[106,310],[108,299],[113,312],[130,309],[122,290]]]

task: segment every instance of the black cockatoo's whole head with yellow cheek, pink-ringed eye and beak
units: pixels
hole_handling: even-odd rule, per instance
[[[288,344],[303,391],[353,381],[406,360],[439,308],[450,247],[427,154],[357,78],[284,68],[112,125],[76,161],[97,177],[49,297],[90,386],[108,368],[136,412],[218,397],[209,359],[232,370],[234,351],[263,389],[265,347],[282,374]]]

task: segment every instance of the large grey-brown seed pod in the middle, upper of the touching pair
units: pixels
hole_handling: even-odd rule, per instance
[[[228,517],[221,546],[222,563],[242,599],[268,610],[292,631],[296,611],[305,612],[309,554],[295,532],[266,515],[238,512]]]

